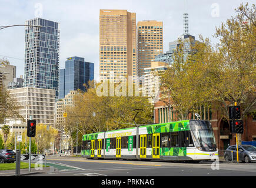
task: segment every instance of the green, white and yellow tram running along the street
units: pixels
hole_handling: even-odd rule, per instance
[[[82,157],[217,160],[218,150],[209,121],[181,120],[84,135]]]

